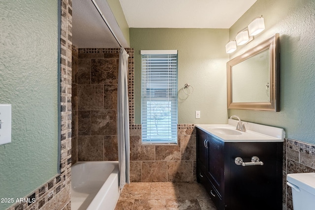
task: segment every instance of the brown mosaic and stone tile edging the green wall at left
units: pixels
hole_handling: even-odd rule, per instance
[[[71,210],[71,0],[61,0],[61,10],[61,173],[24,197],[35,198],[34,203],[16,203],[8,210]]]

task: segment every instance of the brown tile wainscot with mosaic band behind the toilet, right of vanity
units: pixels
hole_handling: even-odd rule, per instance
[[[291,187],[286,185],[286,175],[315,172],[315,145],[285,139],[284,141],[284,210],[293,210]]]

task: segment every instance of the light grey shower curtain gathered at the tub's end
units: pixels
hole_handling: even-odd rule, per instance
[[[129,183],[129,105],[128,105],[128,57],[124,48],[119,53],[117,95],[117,141],[119,160],[119,186]]]

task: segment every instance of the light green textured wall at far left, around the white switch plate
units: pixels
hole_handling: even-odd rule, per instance
[[[0,16],[0,103],[12,104],[0,198],[16,199],[57,174],[58,0],[2,0]]]

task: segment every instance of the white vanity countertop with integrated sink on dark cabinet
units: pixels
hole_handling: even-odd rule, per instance
[[[246,132],[236,130],[237,120],[228,124],[196,124],[201,130],[214,135],[223,142],[284,142],[284,129],[244,122]]]

